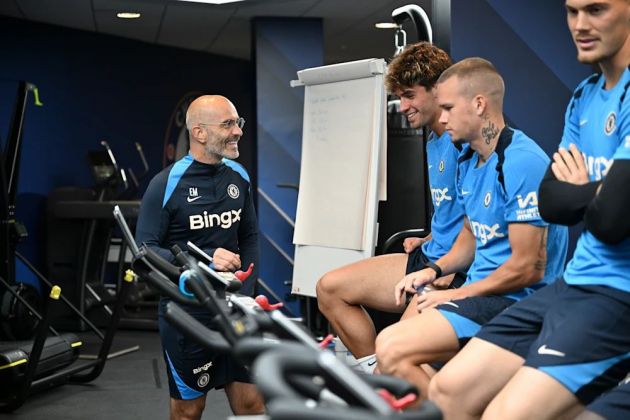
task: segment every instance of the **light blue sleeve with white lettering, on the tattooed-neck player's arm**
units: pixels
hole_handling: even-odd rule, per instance
[[[505,179],[505,221],[547,226],[538,211],[538,186],[548,161],[526,149],[510,151],[503,167]]]

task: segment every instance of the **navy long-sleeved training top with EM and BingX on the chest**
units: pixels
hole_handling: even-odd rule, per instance
[[[158,173],[140,205],[136,242],[174,262],[172,245],[187,250],[192,241],[209,255],[224,248],[241,257],[241,268],[254,263],[241,293],[251,294],[258,268],[258,224],[249,176],[238,163],[216,165],[187,155]]]

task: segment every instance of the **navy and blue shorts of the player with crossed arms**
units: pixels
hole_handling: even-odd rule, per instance
[[[630,370],[630,293],[560,278],[511,306],[477,335],[525,359],[584,405]]]

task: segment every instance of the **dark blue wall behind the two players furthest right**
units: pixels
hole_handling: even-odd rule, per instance
[[[451,1],[453,58],[494,63],[505,79],[507,119],[551,155],[573,89],[592,73],[576,60],[564,1]],[[570,254],[579,230],[571,230]]]

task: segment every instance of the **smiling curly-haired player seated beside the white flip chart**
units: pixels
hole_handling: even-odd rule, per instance
[[[387,90],[400,98],[400,111],[409,125],[432,130],[426,145],[434,209],[431,235],[405,240],[405,253],[380,255],[331,271],[317,284],[320,311],[366,371],[375,367],[376,331],[363,307],[402,312],[405,308],[396,305],[392,287],[405,274],[444,255],[462,226],[463,208],[455,194],[459,150],[438,121],[440,109],[435,99],[435,82],[450,65],[451,59],[444,51],[421,42],[394,57],[385,77]],[[448,285],[453,277],[447,276],[443,282]],[[464,276],[459,277],[455,282],[461,282]]]

